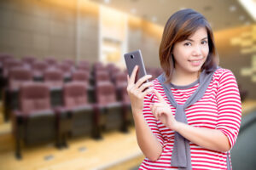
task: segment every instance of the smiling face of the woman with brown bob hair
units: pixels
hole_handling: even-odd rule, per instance
[[[198,73],[209,54],[207,29],[199,28],[188,39],[176,42],[173,47],[175,71]]]

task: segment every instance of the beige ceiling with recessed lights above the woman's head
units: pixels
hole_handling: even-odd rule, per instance
[[[255,23],[237,0],[90,0],[160,26],[181,8],[193,8],[205,15],[213,31]]]

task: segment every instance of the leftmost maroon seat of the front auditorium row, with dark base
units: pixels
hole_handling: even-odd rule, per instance
[[[49,87],[27,82],[20,87],[20,108],[13,111],[15,156],[21,158],[21,144],[41,144],[55,140],[55,113],[50,107]]]

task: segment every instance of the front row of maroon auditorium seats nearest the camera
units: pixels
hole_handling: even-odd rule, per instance
[[[16,156],[21,157],[20,144],[38,144],[55,140],[58,147],[67,145],[67,137],[90,135],[102,138],[102,131],[119,129],[128,132],[131,105],[125,88],[122,102],[115,96],[112,84],[96,86],[95,104],[87,98],[83,82],[67,82],[63,88],[62,106],[51,107],[50,90],[43,82],[26,82],[20,87],[20,109],[12,112]]]

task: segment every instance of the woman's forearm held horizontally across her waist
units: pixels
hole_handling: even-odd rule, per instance
[[[177,122],[177,129],[185,139],[194,144],[209,150],[228,151],[230,150],[229,139],[218,129],[204,127],[193,127],[183,122]]]

